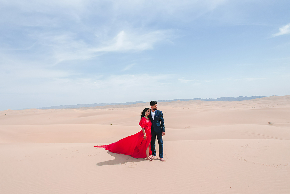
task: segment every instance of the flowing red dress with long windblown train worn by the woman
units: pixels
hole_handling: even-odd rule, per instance
[[[149,155],[151,152],[151,121],[142,117],[139,125],[145,129],[147,138],[144,140],[144,134],[141,129],[138,133],[120,139],[110,145],[96,145],[94,147],[102,147],[110,152],[117,154],[126,154],[134,158],[146,158],[146,149],[149,146]]]

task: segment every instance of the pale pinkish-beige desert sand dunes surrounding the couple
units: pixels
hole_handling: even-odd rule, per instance
[[[290,193],[290,96],[158,103],[165,162],[93,147],[146,107],[0,111],[0,193]]]

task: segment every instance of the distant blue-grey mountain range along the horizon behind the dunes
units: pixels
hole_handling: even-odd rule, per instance
[[[255,98],[263,98],[266,96],[251,96],[251,97],[221,97],[221,98],[193,98],[193,99],[173,99],[173,100],[158,100],[157,102],[172,102],[172,101],[188,101],[188,100],[203,100],[203,101],[242,101],[242,100],[251,100]],[[61,105],[61,106],[50,106],[50,107],[42,107],[38,109],[65,109],[65,108],[83,108],[83,107],[94,107],[94,106],[106,106],[106,105],[119,105],[119,104],[138,104],[138,103],[145,103],[143,101],[136,101],[136,102],[126,102],[126,103],[94,103],[94,104],[77,104],[77,105]]]

